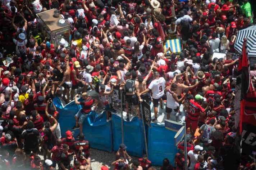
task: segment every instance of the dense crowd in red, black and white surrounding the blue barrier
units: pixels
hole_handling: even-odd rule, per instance
[[[110,122],[116,108],[109,96],[119,88],[126,121],[131,107],[141,119],[143,100],[153,103],[153,123],[159,122],[159,104],[167,119],[174,115],[181,122],[186,113],[187,165],[183,141],[175,161],[164,159],[161,170],[255,170],[253,157],[240,156],[234,145],[239,65],[234,43],[239,30],[253,25],[251,5],[248,0],[0,0],[0,169],[92,169],[83,122],[100,106]],[[36,17],[54,8],[69,24],[68,46],[64,38],[54,44]],[[170,39],[179,39],[180,52],[163,47]],[[214,53],[225,57],[213,58]],[[256,64],[254,86],[255,77]],[[82,106],[64,138],[58,123],[63,115],[52,102],[57,96]],[[126,148],[122,143],[116,152],[115,170],[155,169],[147,155],[130,167]]]

